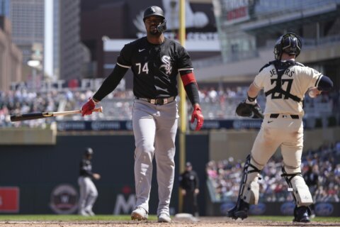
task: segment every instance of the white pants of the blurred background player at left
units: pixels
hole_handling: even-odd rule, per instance
[[[79,177],[78,184],[80,189],[79,213],[92,211],[94,202],[98,197],[98,191],[90,177]]]

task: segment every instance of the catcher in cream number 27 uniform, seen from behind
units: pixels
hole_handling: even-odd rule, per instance
[[[308,206],[312,204],[312,195],[300,168],[304,115],[302,100],[307,91],[315,97],[322,91],[330,90],[333,82],[317,70],[295,62],[301,48],[299,36],[294,33],[281,35],[274,48],[276,60],[262,67],[247,91],[248,97],[244,102],[257,106],[256,97],[263,89],[266,109],[251,155],[246,157],[237,204],[227,214],[231,218],[246,218],[249,204],[258,203],[259,172],[280,147],[283,156],[281,176],[288,183],[295,201],[293,221],[310,221]]]

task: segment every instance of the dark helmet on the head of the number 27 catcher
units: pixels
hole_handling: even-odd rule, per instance
[[[285,35],[281,35],[276,41],[274,47],[275,59],[280,60],[283,52],[297,57],[300,55],[301,48],[302,40],[299,35],[295,33],[285,33]]]

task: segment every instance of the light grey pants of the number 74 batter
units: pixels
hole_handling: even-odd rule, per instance
[[[169,214],[171,191],[174,185],[175,139],[178,126],[176,100],[154,105],[135,99],[132,107],[132,126],[135,135],[136,206],[149,212],[152,180],[152,159],[157,163],[159,205],[157,215]]]

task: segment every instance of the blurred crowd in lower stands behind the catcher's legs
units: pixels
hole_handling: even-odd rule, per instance
[[[243,165],[239,160],[210,161],[206,165],[208,184],[211,185],[212,201],[236,201]],[[293,201],[288,185],[281,177],[282,160],[274,155],[261,171],[259,201]],[[302,175],[312,167],[317,177],[314,201],[340,201],[340,141],[322,145],[317,150],[302,154]]]

